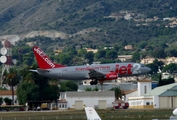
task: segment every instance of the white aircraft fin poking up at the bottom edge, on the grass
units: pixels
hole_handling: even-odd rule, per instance
[[[85,107],[85,112],[87,120],[101,120],[100,116],[93,107]]]

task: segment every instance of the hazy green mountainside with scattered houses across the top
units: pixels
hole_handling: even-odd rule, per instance
[[[176,0],[1,0],[0,35],[56,30],[73,35],[74,45],[172,43],[176,28],[166,17],[177,16]],[[130,16],[128,16],[130,15]],[[125,17],[131,19],[125,19]],[[156,19],[157,18],[157,19]],[[84,29],[96,28],[82,34]]]

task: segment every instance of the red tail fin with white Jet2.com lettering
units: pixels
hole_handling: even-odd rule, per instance
[[[64,67],[64,65],[54,63],[38,46],[33,47],[37,63],[42,69]]]

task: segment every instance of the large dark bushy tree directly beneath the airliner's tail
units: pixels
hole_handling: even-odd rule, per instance
[[[26,71],[27,69],[28,72]],[[59,98],[58,84],[49,82],[47,77],[29,72],[29,68],[24,68],[23,71],[22,81],[17,87],[17,98],[20,104],[24,105],[27,101],[39,100],[56,101]]]

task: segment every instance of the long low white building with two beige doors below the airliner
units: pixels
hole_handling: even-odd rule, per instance
[[[65,106],[66,109],[83,109],[85,106],[106,109],[112,107],[115,95],[114,91],[61,92],[60,100],[67,101],[59,103],[60,106]]]

